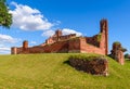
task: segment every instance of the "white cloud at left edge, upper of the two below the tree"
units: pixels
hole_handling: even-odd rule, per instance
[[[13,38],[13,37],[11,37],[9,35],[2,35],[2,34],[0,34],[0,43],[4,43],[4,42],[15,43],[18,40],[21,40],[21,39]]]

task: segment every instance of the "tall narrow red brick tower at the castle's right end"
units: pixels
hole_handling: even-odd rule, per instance
[[[108,54],[108,23],[107,20],[102,20],[100,22],[100,28],[102,34],[102,40],[100,47],[104,49],[105,54]]]

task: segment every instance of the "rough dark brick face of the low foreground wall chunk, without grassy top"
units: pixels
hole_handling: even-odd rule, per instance
[[[69,64],[78,71],[83,71],[92,75],[108,75],[108,62],[106,59],[79,60],[69,59]]]

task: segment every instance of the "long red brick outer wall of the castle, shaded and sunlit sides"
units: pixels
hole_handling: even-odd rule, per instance
[[[13,50],[12,50],[13,51]],[[95,46],[87,43],[87,39],[83,37],[74,38],[66,41],[57,41],[52,44],[38,46],[27,48],[23,50],[23,48],[17,48],[17,54],[20,53],[51,53],[51,52],[82,52],[82,53],[98,53],[105,54],[105,50],[98,48]],[[13,52],[12,52],[13,53]]]

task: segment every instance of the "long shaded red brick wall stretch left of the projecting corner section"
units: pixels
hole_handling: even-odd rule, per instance
[[[12,50],[13,53],[14,50]],[[23,48],[16,49],[17,54],[21,53],[51,53],[51,52],[68,52],[68,42],[58,41],[53,44],[47,44],[44,47],[31,47],[23,50]],[[14,53],[13,53],[14,54]]]

